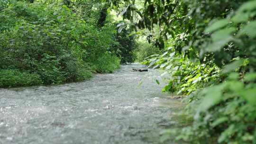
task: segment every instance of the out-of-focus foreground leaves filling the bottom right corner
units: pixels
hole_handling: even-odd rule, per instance
[[[219,144],[253,144],[256,140],[256,85],[247,83],[256,80],[253,75],[254,72],[248,73],[241,81],[238,72],[230,73],[225,83],[193,95],[187,107],[188,113],[195,114],[192,126],[173,129],[172,134],[178,132],[177,139],[195,143],[217,137]]]

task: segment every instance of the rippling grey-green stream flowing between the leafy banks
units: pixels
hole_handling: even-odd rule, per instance
[[[159,144],[181,106],[161,92],[158,72],[131,71],[141,67],[122,65],[78,83],[0,89],[0,144]]]

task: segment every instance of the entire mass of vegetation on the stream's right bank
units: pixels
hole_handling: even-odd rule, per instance
[[[111,2],[164,51],[144,61],[164,71],[163,91],[187,96],[192,124],[166,130],[162,141],[176,134],[195,144],[256,142],[256,0]]]

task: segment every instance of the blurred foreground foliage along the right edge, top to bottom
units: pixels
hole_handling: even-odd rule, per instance
[[[255,10],[255,0],[249,1],[233,17],[215,21],[206,29],[212,34],[205,51],[229,55],[229,48],[234,48],[233,59],[222,69],[227,75],[223,82],[191,95],[187,112],[194,115],[194,122],[175,129],[176,139],[193,143],[213,139],[219,144],[256,141]]]

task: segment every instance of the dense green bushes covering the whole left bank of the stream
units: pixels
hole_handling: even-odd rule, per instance
[[[101,0],[1,0],[0,87],[82,81],[132,62],[134,37],[128,28],[119,34],[104,7]]]

